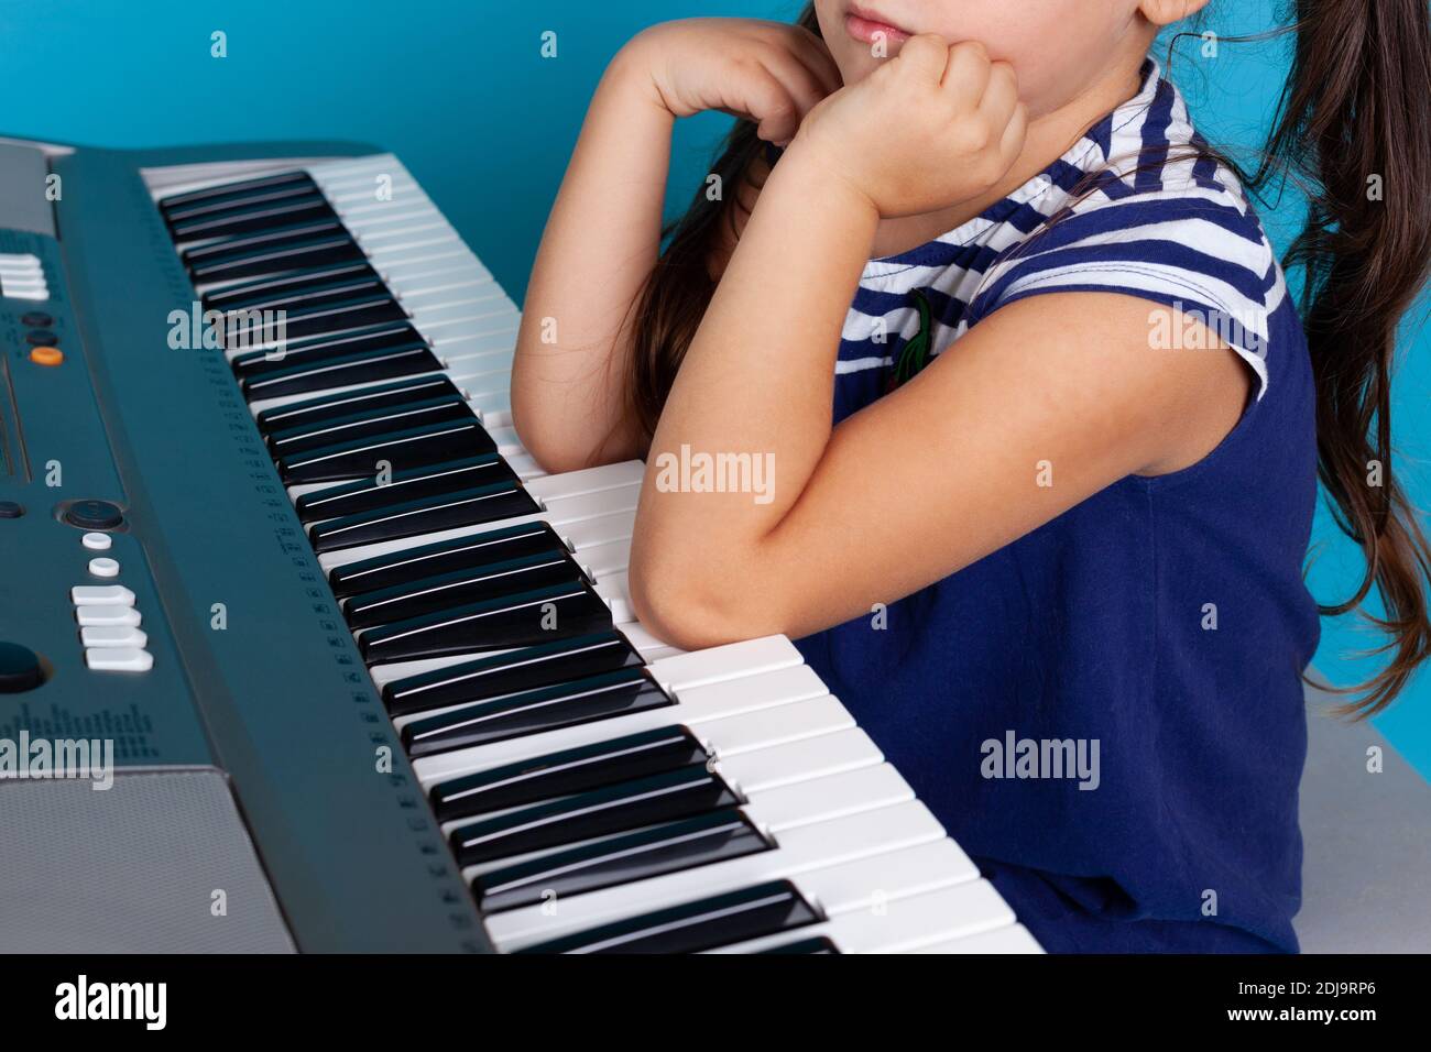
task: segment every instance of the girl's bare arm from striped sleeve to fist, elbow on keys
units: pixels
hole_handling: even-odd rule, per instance
[[[977,44],[916,37],[811,113],[776,166],[651,445],[631,587],[657,634],[701,647],[869,614],[1128,474],[1192,462],[1235,422],[1246,384],[1231,354],[1152,352],[1146,302],[1070,293],[995,312],[831,429],[841,322],[880,215],[997,182],[1022,140],[1015,96]],[[896,115],[914,132],[851,150]],[[768,502],[663,491],[683,445],[768,455]]]

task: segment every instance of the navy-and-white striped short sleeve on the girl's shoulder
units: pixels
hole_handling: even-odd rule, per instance
[[[1256,374],[1258,398],[1266,394],[1271,318],[1286,295],[1282,271],[1248,206],[1203,172],[1176,192],[1110,175],[1105,190],[989,268],[969,323],[1046,292],[1115,292],[1168,306],[1231,346]],[[1149,318],[1153,346],[1196,346],[1188,342],[1193,332]]]

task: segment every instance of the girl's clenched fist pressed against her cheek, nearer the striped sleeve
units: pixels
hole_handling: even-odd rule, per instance
[[[1019,152],[1027,110],[1013,67],[979,42],[922,34],[867,79],[817,106],[793,147],[892,219],[993,189]]]

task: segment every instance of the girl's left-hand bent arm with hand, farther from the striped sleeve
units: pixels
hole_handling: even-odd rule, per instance
[[[517,339],[512,415],[548,471],[640,455],[628,412],[630,313],[655,263],[678,116],[723,109],[787,142],[839,87],[823,44],[778,23],[657,26],[612,60],[547,222]]]

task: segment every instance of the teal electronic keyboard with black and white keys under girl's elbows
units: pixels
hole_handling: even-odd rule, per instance
[[[787,638],[633,617],[644,465],[522,448],[519,313],[392,155],[6,140],[0,190],[0,739],[117,769],[0,779],[0,912],[97,882],[163,919],[67,945],[1037,952]],[[99,872],[20,842],[62,814]]]

